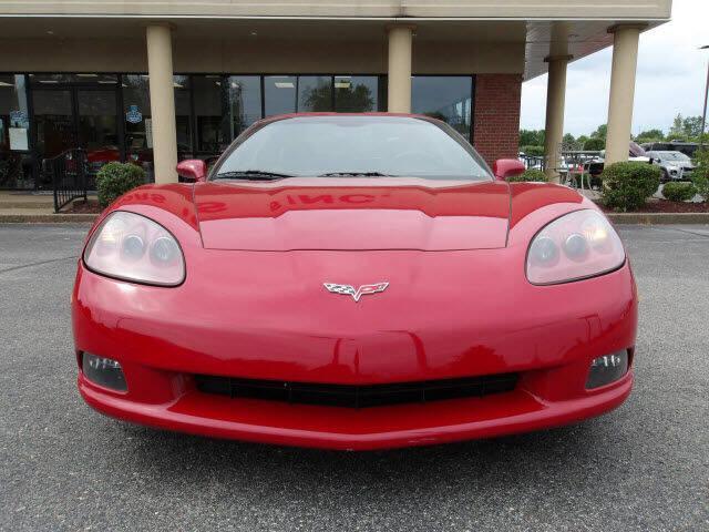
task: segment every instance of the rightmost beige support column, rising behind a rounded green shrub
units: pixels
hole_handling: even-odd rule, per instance
[[[638,64],[638,42],[643,25],[616,25],[614,33],[613,68],[610,71],[610,99],[608,103],[608,135],[606,137],[606,165],[628,160],[635,74]]]

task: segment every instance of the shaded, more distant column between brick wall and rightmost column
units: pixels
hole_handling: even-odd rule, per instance
[[[564,140],[564,110],[566,106],[566,66],[572,55],[549,55],[548,84],[546,91],[546,131],[544,156],[546,175],[552,183],[559,182],[562,141]]]

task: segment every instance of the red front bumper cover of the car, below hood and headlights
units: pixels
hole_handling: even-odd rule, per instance
[[[349,259],[353,272],[369,273],[370,282],[379,280],[380,269],[399,272],[425,305],[397,291],[398,283],[359,304],[325,289],[304,299],[307,283],[282,278],[328,279],[329,258],[337,252],[320,253],[317,260],[311,253],[294,253],[286,265],[282,255],[258,254],[258,265],[249,265],[244,264],[249,254],[238,254],[242,273],[219,264],[227,255],[233,264],[234,252],[214,252],[210,276],[199,283],[188,277],[176,289],[107,279],[80,264],[72,297],[76,352],[119,360],[129,390],[96,386],[81,369],[79,389],[94,409],[136,423],[351,450],[536,430],[620,405],[630,393],[631,367],[608,386],[586,390],[585,382],[594,358],[635,345],[637,298],[629,266],[584,282],[533,287],[525,279],[508,280],[515,276],[504,268],[516,265],[485,260],[500,253],[368,252]],[[418,254],[415,259],[411,254]],[[473,254],[477,260],[471,263]],[[339,258],[335,262],[341,268]],[[491,268],[493,263],[497,266]],[[412,264],[415,275],[407,269]],[[496,268],[495,277],[507,282],[441,283],[460,279],[461,268],[472,279],[489,278],[486,269]],[[227,275],[230,283],[225,283]],[[251,284],[234,278],[240,275]],[[438,279],[435,290],[417,290],[432,285],[429,276]],[[294,288],[258,293],[253,286],[268,286],[263,277]],[[520,375],[513,391],[360,409],[233,399],[199,391],[194,379],[214,375],[362,385],[504,372]]]

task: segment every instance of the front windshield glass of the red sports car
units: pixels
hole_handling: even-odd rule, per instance
[[[480,155],[448,126],[415,117],[371,115],[271,122],[237,141],[212,178],[326,175],[492,178]]]

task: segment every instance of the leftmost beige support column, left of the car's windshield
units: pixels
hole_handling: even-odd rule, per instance
[[[177,127],[173,81],[172,32],[166,24],[148,25],[147,73],[151,88],[153,161],[156,183],[177,183]]]

